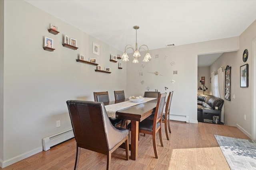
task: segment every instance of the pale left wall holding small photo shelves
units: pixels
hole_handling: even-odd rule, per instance
[[[67,100],[93,101],[93,92],[98,91],[108,91],[110,100],[114,100],[114,90],[126,91],[126,63],[118,69],[118,63],[109,59],[110,54],[121,51],[27,2],[4,1],[4,14],[4,133],[0,160],[6,166],[24,154],[40,152],[42,138],[72,127]],[[48,32],[50,23],[58,26],[58,35]],[[64,35],[77,39],[78,50],[62,47]],[[44,36],[54,39],[55,51],[44,51]],[[93,42],[100,45],[100,56],[92,54]],[[87,60],[96,58],[112,73],[95,72],[96,66],[76,62],[79,54]],[[61,122],[58,128],[57,120]]]

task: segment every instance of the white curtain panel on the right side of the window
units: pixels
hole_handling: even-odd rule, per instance
[[[220,94],[220,98],[222,98],[224,100],[224,97],[225,97],[225,94],[224,94],[224,76],[223,76],[223,70],[222,68],[220,67],[218,69],[218,88],[219,88],[219,94]],[[220,116],[220,121],[222,123],[224,123],[224,104],[222,106],[222,110],[221,110],[221,116]]]

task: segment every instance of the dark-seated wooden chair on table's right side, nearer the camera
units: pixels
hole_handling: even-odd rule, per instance
[[[164,109],[164,102],[166,98],[166,93],[159,94],[158,101],[156,104],[156,111],[154,115],[154,120],[151,119],[144,119],[143,121],[139,122],[139,133],[146,133],[149,135],[152,135],[153,138],[153,147],[154,147],[154,153],[156,158],[158,158],[158,152],[156,148],[156,133],[159,133],[159,139],[161,146],[163,147],[163,141],[162,141],[162,115],[163,115],[163,109]],[[131,123],[128,125],[129,128],[131,128]]]

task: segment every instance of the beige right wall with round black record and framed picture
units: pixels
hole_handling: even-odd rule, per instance
[[[231,66],[231,101],[225,102],[225,123],[236,126],[248,137],[252,138],[252,40],[256,38],[256,21],[254,21],[241,35],[240,47],[237,52],[223,53],[211,66],[210,72],[220,66]],[[248,60],[244,63],[242,55],[248,49]],[[249,64],[249,87],[240,88],[240,66]],[[235,98],[233,98],[235,95]],[[244,120],[246,115],[246,120]]]

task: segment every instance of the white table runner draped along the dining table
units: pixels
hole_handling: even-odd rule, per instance
[[[154,100],[154,99],[156,99],[156,98],[144,98],[144,100],[142,102],[131,102],[129,100],[129,101],[121,102],[121,103],[117,103],[117,104],[110,104],[110,105],[105,106],[105,108],[106,108],[108,117],[116,117],[116,111],[118,111],[118,110],[132,107],[132,106],[135,106],[138,104],[142,104],[142,103],[148,102],[150,100]]]

